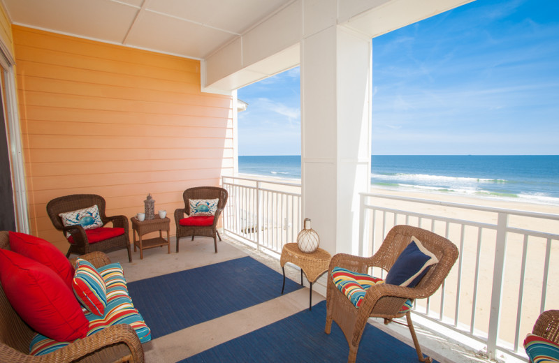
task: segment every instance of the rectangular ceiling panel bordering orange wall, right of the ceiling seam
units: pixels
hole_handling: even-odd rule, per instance
[[[136,21],[126,44],[203,59],[216,45],[232,37],[224,31],[145,11]]]

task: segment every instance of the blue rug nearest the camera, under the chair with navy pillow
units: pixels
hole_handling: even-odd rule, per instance
[[[342,330],[332,323],[324,333],[326,302],[289,318],[193,355],[180,363],[347,362],[349,346]],[[414,348],[367,325],[357,351],[360,362],[419,362]],[[436,362],[436,361],[433,361]]]

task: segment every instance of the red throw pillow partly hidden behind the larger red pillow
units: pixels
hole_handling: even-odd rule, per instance
[[[10,249],[50,267],[68,285],[68,288],[72,288],[74,268],[68,258],[52,243],[24,233],[10,232]]]

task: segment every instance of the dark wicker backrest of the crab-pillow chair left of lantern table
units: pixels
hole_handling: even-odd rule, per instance
[[[94,205],[97,205],[99,208],[101,221],[106,223],[105,199],[103,199],[101,195],[96,194],[72,194],[55,198],[48,202],[47,214],[50,217],[50,221],[52,221],[52,225],[54,225],[57,230],[62,230],[64,225],[62,224],[62,218],[59,216],[60,213],[72,212]]]

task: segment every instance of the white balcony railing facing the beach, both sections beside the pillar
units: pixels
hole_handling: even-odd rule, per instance
[[[275,253],[296,241],[300,185],[233,177],[223,185],[228,233]],[[490,358],[499,350],[525,357],[525,334],[539,313],[557,309],[559,215],[363,193],[360,242],[352,250],[372,255],[397,224],[431,230],[460,251],[442,288],[416,301],[414,313],[482,343]]]

